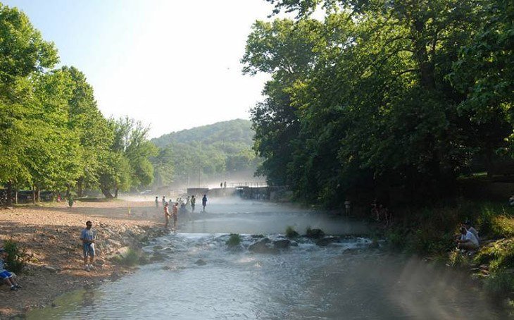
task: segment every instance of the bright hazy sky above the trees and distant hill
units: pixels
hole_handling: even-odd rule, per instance
[[[1,0],[0,0],[1,1]],[[239,59],[264,0],[4,0],[24,11],[61,64],[94,87],[104,116],[151,125],[151,137],[249,118],[265,75]]]

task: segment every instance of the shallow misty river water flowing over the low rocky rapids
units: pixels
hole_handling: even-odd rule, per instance
[[[287,226],[347,236],[322,247],[298,240],[280,254],[247,250],[252,235],[280,239]],[[240,250],[227,248],[228,233],[242,234]],[[213,201],[144,248],[163,261],[65,294],[27,319],[505,319],[468,276],[370,250],[363,233],[318,212]]]

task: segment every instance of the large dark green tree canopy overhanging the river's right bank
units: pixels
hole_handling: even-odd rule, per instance
[[[270,183],[331,207],[419,204],[453,195],[472,159],[514,154],[511,1],[270,2],[299,13],[256,22],[242,59],[271,75],[251,111]]]

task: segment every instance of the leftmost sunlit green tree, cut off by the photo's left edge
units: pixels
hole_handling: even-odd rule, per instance
[[[31,110],[31,82],[58,62],[54,44],[45,42],[27,16],[17,8],[0,4],[0,183],[8,186],[30,179],[25,150],[30,143],[25,116]],[[11,204],[11,197],[8,197]]]

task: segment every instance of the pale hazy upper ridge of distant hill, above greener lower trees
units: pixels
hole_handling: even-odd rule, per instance
[[[213,144],[215,142],[242,142],[246,146],[251,147],[253,130],[251,130],[251,122],[244,119],[235,119],[230,121],[222,121],[212,125],[203,125],[201,127],[189,130],[181,130],[175,133],[161,135],[161,137],[151,140],[157,147],[166,147],[173,142],[191,143],[198,142],[200,144]]]

